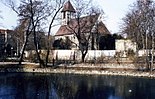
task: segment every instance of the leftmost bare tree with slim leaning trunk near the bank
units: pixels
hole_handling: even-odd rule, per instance
[[[24,1],[21,1],[21,3],[22,4],[20,4],[20,6],[17,8],[16,2],[14,2],[12,0],[8,0],[7,2],[4,2],[4,4],[6,6],[11,8],[20,17],[19,26],[17,26],[15,29],[15,31],[17,33],[23,34],[23,44],[22,44],[22,48],[20,51],[19,64],[21,64],[23,61],[24,51],[25,51],[25,48],[26,48],[27,43],[28,43],[28,38],[29,38],[29,35],[32,33],[32,29],[31,29],[32,26],[30,24],[31,20],[29,19],[29,17],[28,17],[29,14],[26,11],[28,6],[25,5],[26,2],[24,2]],[[21,34],[19,34],[19,35],[21,35]],[[16,37],[18,38],[19,35],[16,34]],[[19,37],[19,39],[21,39],[21,38]]]

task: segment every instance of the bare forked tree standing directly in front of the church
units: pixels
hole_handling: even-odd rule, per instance
[[[90,40],[93,40],[92,32],[93,27],[96,25],[96,22],[99,17],[99,13],[95,12],[96,10],[92,9],[91,0],[85,2],[84,0],[75,0],[75,19],[71,19],[67,22],[67,29],[72,32],[78,40],[78,49],[80,50],[82,56],[82,62],[85,61],[85,56],[90,47]]]

